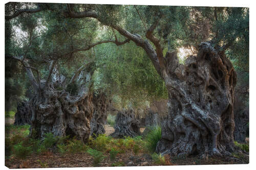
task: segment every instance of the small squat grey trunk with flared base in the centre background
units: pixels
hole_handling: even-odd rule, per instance
[[[114,138],[123,138],[125,136],[135,137],[140,135],[139,117],[133,110],[119,111],[115,120],[115,132],[111,134]]]

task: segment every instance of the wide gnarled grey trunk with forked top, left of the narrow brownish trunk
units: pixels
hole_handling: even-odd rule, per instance
[[[90,120],[94,111],[90,94],[90,68],[80,71],[78,92],[66,90],[66,78],[54,67],[50,83],[31,100],[30,136],[44,138],[46,133],[55,136],[77,136],[86,142],[90,136]],[[41,81],[41,87],[46,81]]]

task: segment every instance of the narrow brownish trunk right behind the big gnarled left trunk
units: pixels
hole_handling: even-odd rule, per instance
[[[98,136],[104,134],[104,125],[106,124],[106,111],[110,107],[110,102],[104,93],[93,95],[94,113],[91,119],[91,135]]]

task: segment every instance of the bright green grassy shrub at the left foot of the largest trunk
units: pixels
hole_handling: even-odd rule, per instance
[[[161,127],[152,127],[146,135],[146,148],[150,152],[155,152],[157,142],[161,139]]]

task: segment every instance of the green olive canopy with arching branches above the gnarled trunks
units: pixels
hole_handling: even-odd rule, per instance
[[[122,107],[167,99],[165,54],[183,47],[195,55],[202,41],[227,50],[248,80],[248,8],[8,3],[5,33],[7,105],[33,93],[24,66],[38,82],[48,79],[49,61],[68,81],[93,62],[91,90]],[[26,63],[13,60],[21,56]]]

